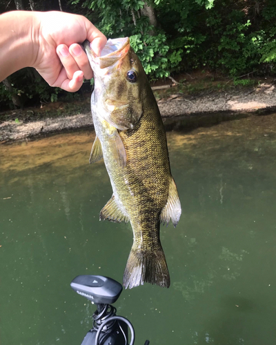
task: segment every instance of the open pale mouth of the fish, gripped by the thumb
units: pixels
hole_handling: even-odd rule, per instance
[[[99,57],[90,48],[90,43],[88,41],[83,43],[83,47],[88,55],[92,70],[93,67],[95,68],[95,65],[99,66],[99,68],[107,68],[114,65],[128,54],[130,50],[130,39],[128,37],[108,39]]]

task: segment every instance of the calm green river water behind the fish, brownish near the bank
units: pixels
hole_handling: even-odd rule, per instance
[[[81,344],[95,306],[77,275],[121,282],[129,224],[99,221],[112,191],[93,132],[0,146],[1,345]],[[161,227],[169,289],[123,290],[135,344],[276,342],[276,115],[168,132],[183,215]]]

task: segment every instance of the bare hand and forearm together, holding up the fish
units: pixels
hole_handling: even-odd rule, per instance
[[[106,37],[86,18],[66,12],[13,11],[0,15],[0,81],[30,66],[50,86],[79,90],[92,70],[79,43],[97,55]]]

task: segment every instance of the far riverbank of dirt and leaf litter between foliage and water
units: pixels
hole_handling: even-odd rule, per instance
[[[167,90],[156,90],[155,97],[165,123],[166,119],[174,117],[185,117],[187,121],[198,122],[203,117],[211,119],[218,114],[226,115],[229,119],[241,112],[244,117],[256,112],[259,114],[276,111],[276,86],[273,80],[259,81],[249,87],[231,84],[225,86],[221,88],[217,83],[208,83],[202,88],[189,90],[186,85],[177,84]],[[93,126],[89,96],[81,102],[81,106],[71,107],[70,111],[66,110],[63,103],[56,103],[52,104],[50,116],[47,110],[43,115],[39,113],[39,119],[35,119],[34,112],[32,109],[16,110],[4,119],[2,116],[0,141],[3,143]],[[71,115],[66,115],[68,112],[71,112]]]

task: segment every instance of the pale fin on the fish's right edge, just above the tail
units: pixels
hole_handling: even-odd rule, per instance
[[[160,220],[163,221],[164,224],[168,223],[170,221],[170,218],[172,219],[172,224],[174,226],[177,226],[177,223],[179,221],[181,215],[181,204],[179,200],[179,195],[177,192],[177,186],[175,185],[175,180],[172,178],[170,180],[170,187],[168,190],[168,201],[166,206],[163,208]]]

